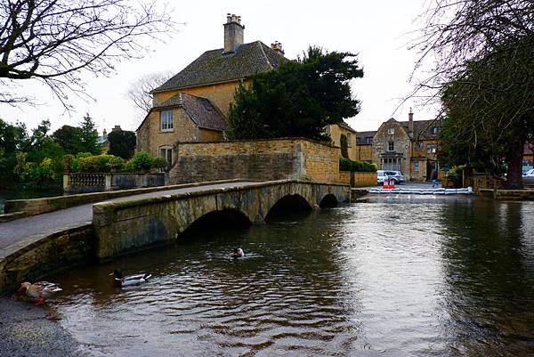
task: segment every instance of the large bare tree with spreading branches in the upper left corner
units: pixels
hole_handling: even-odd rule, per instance
[[[83,93],[82,73],[108,76],[118,61],[142,56],[142,39],[174,25],[156,0],[2,0],[0,102],[28,101],[13,86],[35,78],[68,108],[68,94]]]

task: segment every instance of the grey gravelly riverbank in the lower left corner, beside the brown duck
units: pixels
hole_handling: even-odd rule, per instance
[[[86,356],[45,306],[0,297],[0,356]]]

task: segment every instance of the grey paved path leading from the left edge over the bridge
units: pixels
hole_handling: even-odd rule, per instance
[[[101,202],[117,202],[131,199],[151,199],[176,193],[193,191],[207,191],[218,188],[244,187],[252,182],[239,183],[217,183],[206,186],[185,187],[181,189],[156,191],[142,193],[138,195],[126,196],[117,199],[102,199]],[[63,231],[83,223],[93,222],[93,205],[98,202],[87,203],[85,205],[69,207],[59,211],[46,213],[43,215],[32,215],[20,218],[11,222],[0,223],[0,250],[17,243],[20,239],[36,235],[49,235],[55,231]]]

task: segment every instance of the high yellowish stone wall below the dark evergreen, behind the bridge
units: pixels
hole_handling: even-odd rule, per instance
[[[242,179],[339,183],[339,147],[303,138],[181,142],[170,183]]]

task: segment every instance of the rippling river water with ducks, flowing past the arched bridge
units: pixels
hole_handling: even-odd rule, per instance
[[[532,203],[375,199],[217,227],[55,275],[49,304],[94,356],[524,356],[533,217]],[[153,278],[113,288],[115,267]]]

